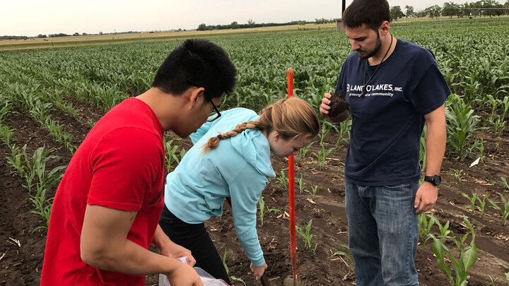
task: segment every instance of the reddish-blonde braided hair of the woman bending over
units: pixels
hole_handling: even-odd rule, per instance
[[[267,105],[257,121],[243,122],[235,126],[232,131],[209,138],[209,141],[203,145],[202,153],[215,149],[221,140],[237,136],[246,129],[258,129],[267,133],[274,130],[285,140],[300,136],[312,139],[320,131],[320,121],[315,109],[305,100],[298,97],[278,100],[273,105]]]

